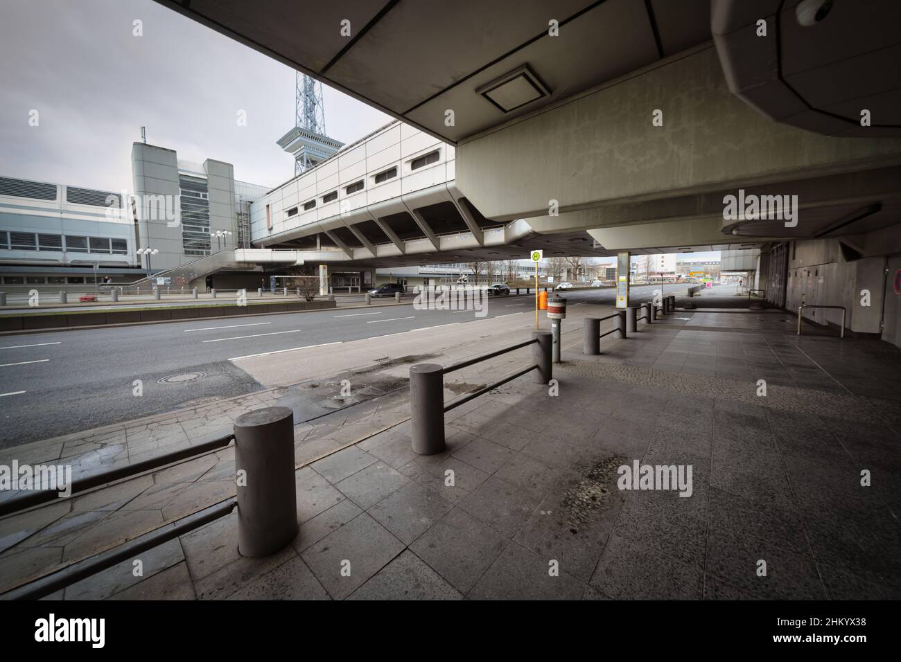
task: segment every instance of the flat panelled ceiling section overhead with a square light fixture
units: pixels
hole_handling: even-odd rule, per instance
[[[452,143],[711,36],[710,0],[157,2]]]

